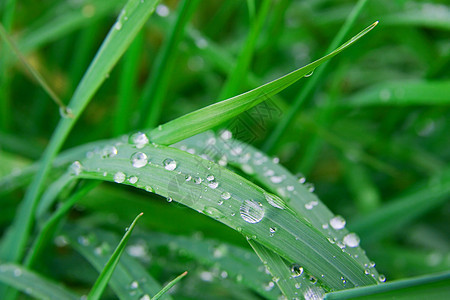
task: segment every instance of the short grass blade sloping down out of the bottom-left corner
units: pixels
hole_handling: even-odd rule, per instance
[[[0,282],[37,299],[80,299],[80,296],[51,282],[40,274],[15,264],[0,264]]]

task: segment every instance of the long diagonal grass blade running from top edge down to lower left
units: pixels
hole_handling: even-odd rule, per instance
[[[41,160],[39,171],[27,189],[17,216],[6,233],[0,252],[3,260],[16,262],[23,256],[33,225],[33,215],[39,194],[43,189],[54,157],[95,92],[154,11],[157,2],[129,0],[125,4],[69,103],[69,109],[74,118],[62,118],[53,133]]]

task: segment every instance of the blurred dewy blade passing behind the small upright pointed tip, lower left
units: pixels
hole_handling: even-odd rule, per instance
[[[67,237],[70,246],[99,272],[112,254],[110,245],[117,244],[119,241],[117,235],[92,227],[65,226],[62,234]],[[149,274],[140,261],[127,253],[132,242],[130,241],[129,244],[130,246],[121,255],[109,285],[120,299],[156,294],[161,290],[161,285]],[[172,299],[168,295],[163,298]]]

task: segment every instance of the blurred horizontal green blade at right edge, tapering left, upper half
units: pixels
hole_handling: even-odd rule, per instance
[[[339,103],[345,107],[448,105],[450,81],[384,82],[362,90]]]

